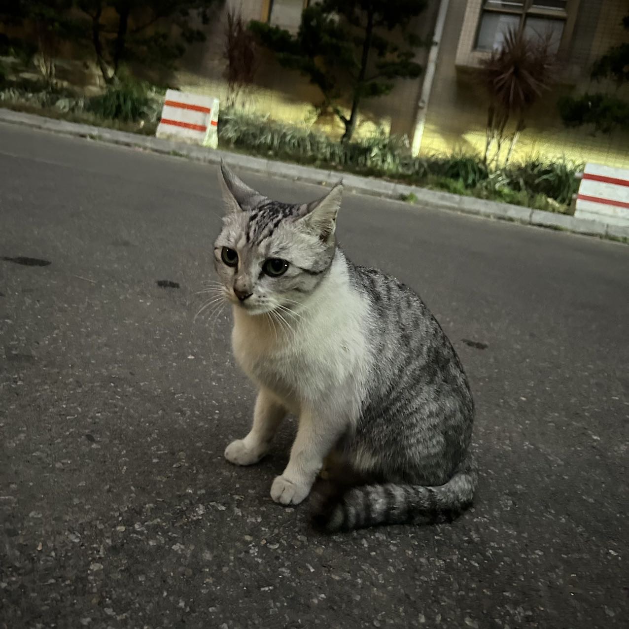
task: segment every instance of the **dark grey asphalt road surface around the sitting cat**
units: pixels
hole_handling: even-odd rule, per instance
[[[194,321],[220,214],[213,167],[0,125],[0,626],[626,627],[629,247],[349,194],[348,255],[460,353],[482,476],[452,525],[325,537],[269,497],[294,421],[223,460],[255,392]]]

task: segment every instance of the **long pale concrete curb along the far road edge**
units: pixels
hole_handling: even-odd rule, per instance
[[[178,155],[187,157],[196,162],[217,164],[221,158],[230,166],[251,170],[272,177],[284,177],[312,184],[330,186],[343,179],[344,186],[352,191],[362,194],[381,196],[389,199],[403,199],[414,195],[417,203],[431,208],[447,209],[464,214],[474,214],[506,221],[515,221],[526,225],[542,226],[555,230],[573,231],[575,233],[613,240],[629,240],[629,227],[609,225],[599,221],[589,221],[582,218],[574,218],[567,214],[555,214],[537,209],[523,208],[522,206],[485,201],[474,197],[449,194],[426,190],[416,186],[407,186],[384,179],[372,177],[359,177],[337,170],[322,170],[298,164],[287,164],[275,160],[265,160],[262,157],[251,157],[240,153],[230,153],[221,150],[198,147],[183,142],[162,140],[148,135],[125,133],[100,126],[81,125],[77,123],[44,118],[34,114],[26,114],[10,109],[0,109],[0,122],[13,125],[25,125],[31,128],[52,131],[63,135],[75,135],[120,144],[123,146],[139,147],[154,153]]]

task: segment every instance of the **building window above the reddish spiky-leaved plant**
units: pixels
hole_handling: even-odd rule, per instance
[[[567,18],[568,0],[485,0],[476,50],[499,50],[511,29],[528,38],[550,38],[551,52],[558,52]]]

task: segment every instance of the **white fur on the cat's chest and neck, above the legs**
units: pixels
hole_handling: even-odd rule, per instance
[[[357,416],[371,367],[365,338],[368,309],[348,281],[342,260],[333,264],[291,330],[269,316],[236,306],[232,343],[238,364],[259,386],[274,392],[292,413],[304,406]]]

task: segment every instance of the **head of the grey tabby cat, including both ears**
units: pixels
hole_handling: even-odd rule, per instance
[[[233,304],[258,315],[298,309],[330,268],[343,187],[303,204],[280,203],[243,183],[221,163],[226,214],[214,267]]]

